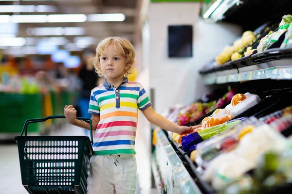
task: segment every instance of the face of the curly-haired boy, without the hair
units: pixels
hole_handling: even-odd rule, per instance
[[[124,56],[119,54],[113,47],[109,47],[100,56],[101,72],[110,79],[124,77],[125,74],[125,59]]]

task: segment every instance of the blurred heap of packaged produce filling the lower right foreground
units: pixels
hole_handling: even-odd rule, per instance
[[[199,143],[191,152],[190,159],[203,169],[200,178],[216,191],[224,194],[239,191],[259,193],[272,186],[286,184],[292,178],[291,155],[283,155],[283,152],[292,153],[292,142],[279,132],[290,126],[292,106],[259,119],[252,116],[234,128]],[[289,149],[287,145],[290,145]],[[281,167],[279,163],[262,160],[270,156],[278,162],[290,160],[290,164]],[[264,165],[263,162],[267,163]],[[265,168],[272,164],[274,170],[267,172]],[[288,171],[284,172],[284,169]],[[254,172],[252,175],[249,173],[251,170]],[[272,178],[282,179],[273,182]],[[248,181],[249,186],[244,187],[242,181]],[[237,187],[232,187],[234,185]]]

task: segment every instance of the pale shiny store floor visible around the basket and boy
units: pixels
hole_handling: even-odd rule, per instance
[[[50,135],[84,135],[84,131],[67,124],[58,131],[52,131]],[[143,139],[143,135],[137,134],[137,139]],[[150,160],[149,153],[143,154],[146,149],[144,145],[143,140],[136,144],[137,153],[141,153],[137,154],[140,188],[137,194],[158,194],[156,189],[150,187]],[[21,183],[18,147],[15,143],[0,144],[0,194],[27,194]]]

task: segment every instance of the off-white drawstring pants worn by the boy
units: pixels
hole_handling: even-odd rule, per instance
[[[135,194],[136,182],[134,154],[91,157],[88,194]]]

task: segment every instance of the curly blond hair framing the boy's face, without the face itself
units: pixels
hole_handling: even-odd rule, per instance
[[[95,72],[101,77],[103,74],[100,68],[100,56],[105,52],[110,45],[113,45],[114,49],[124,56],[125,58],[125,77],[128,77],[132,73],[133,65],[135,62],[135,50],[131,42],[123,37],[112,36],[102,40],[96,47],[96,55],[93,57],[92,65],[95,68]]]

